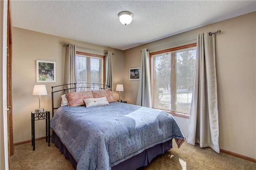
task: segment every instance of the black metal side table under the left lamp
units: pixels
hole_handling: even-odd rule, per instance
[[[50,147],[50,111],[31,111],[31,141],[33,150],[35,150],[35,121],[45,119],[46,122],[46,142]]]

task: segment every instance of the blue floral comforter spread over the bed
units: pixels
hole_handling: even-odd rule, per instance
[[[170,139],[184,140],[172,115],[121,102],[57,109],[50,127],[77,162],[77,169],[107,170]],[[176,141],[177,142],[177,141]]]

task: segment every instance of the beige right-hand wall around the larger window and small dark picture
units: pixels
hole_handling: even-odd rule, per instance
[[[216,35],[220,149],[256,158],[256,12],[124,51],[124,100],[136,104],[139,81],[129,80],[129,68],[140,67],[141,49],[154,52],[185,45],[196,42],[192,38],[198,33],[218,29],[221,29]],[[183,41],[186,39],[192,40]],[[188,119],[176,117],[176,120],[186,135]]]

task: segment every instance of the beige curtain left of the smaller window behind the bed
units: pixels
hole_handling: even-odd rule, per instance
[[[76,45],[68,44],[66,46],[66,62],[64,84],[76,83]],[[66,85],[64,88],[74,88],[74,85]],[[68,90],[68,93],[75,89]]]

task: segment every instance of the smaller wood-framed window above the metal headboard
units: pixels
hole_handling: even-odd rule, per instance
[[[105,56],[76,52],[76,81],[98,83],[105,81]],[[85,86],[78,84],[78,86]]]

